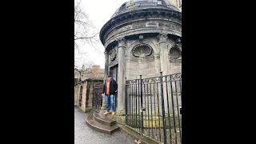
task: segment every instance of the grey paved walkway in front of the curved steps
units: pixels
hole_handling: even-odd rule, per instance
[[[74,108],[74,144],[132,144],[134,139],[120,130],[114,134],[102,134],[86,125],[86,115]]]

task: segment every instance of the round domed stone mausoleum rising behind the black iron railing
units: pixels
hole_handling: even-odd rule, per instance
[[[182,12],[174,2],[130,0],[102,27],[105,79],[118,82],[117,115],[125,113],[125,78],[182,72]]]

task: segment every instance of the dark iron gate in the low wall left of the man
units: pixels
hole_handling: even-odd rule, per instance
[[[93,110],[99,112],[102,107],[102,83],[94,83],[93,86]]]

